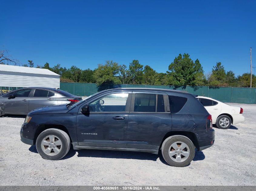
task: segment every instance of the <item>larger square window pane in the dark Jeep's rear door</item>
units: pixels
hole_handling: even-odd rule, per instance
[[[135,94],[134,112],[155,112],[156,94]]]

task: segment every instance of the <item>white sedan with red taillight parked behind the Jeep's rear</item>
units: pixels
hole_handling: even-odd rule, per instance
[[[243,108],[230,106],[210,97],[198,96],[199,102],[211,114],[212,124],[220,129],[228,129],[231,124],[237,124],[244,121]]]

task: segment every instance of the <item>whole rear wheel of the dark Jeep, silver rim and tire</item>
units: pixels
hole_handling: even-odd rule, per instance
[[[195,155],[194,144],[189,138],[182,135],[166,138],[161,150],[165,161],[174,167],[187,166]]]

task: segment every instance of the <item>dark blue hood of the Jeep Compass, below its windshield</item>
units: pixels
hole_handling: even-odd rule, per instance
[[[46,113],[67,113],[68,109],[66,105],[67,104],[40,107],[38,109],[35,109],[29,112],[28,116],[37,115],[37,114],[46,114]]]

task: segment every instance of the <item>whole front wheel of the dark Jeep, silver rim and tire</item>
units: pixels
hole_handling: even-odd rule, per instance
[[[70,138],[60,129],[46,129],[36,139],[36,149],[42,158],[59,160],[69,151]]]

